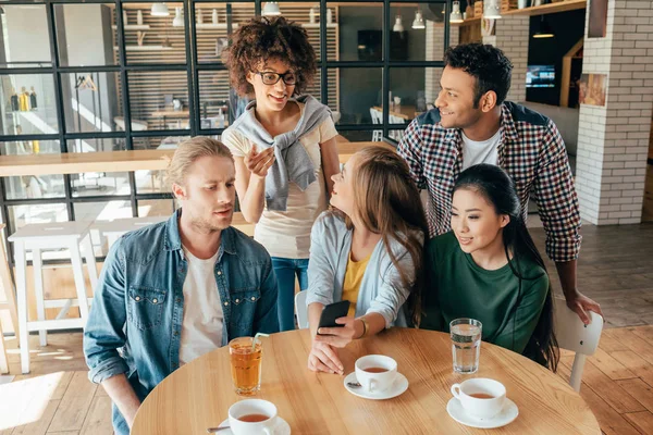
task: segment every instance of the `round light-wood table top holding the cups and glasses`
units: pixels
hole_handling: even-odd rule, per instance
[[[365,355],[397,361],[409,386],[389,400],[356,397],[345,389],[343,376],[309,371],[308,330],[273,334],[262,343],[261,391],[255,397],[276,405],[294,434],[601,434],[588,405],[563,378],[488,343],[481,346],[480,368],[473,375],[453,372],[449,336],[432,331],[394,327],[340,349],[345,374]],[[502,382],[519,408],[517,420],[494,430],[453,420],[446,411],[449,388],[469,377]],[[242,399],[234,393],[225,346],[163,380],[140,406],[132,434],[206,434]]]

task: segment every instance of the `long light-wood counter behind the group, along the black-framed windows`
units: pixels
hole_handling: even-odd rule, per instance
[[[395,149],[386,142],[338,141],[341,163],[345,163],[354,152],[368,146]],[[168,149],[0,156],[0,177],[84,172],[161,171],[168,167],[173,153],[173,149]]]

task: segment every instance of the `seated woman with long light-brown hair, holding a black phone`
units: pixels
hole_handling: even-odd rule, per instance
[[[408,166],[392,150],[358,151],[333,181],[337,211],[323,213],[311,234],[308,368],[342,374],[336,348],[393,325],[419,324],[428,226]],[[340,300],[352,302],[337,320],[343,327],[317,331],[324,306]]]

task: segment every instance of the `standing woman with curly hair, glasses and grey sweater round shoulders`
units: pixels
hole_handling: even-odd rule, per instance
[[[317,71],[306,30],[284,17],[239,26],[224,52],[232,86],[254,97],[222,134],[236,163],[236,191],[255,239],[272,257],[281,331],[295,328],[295,275],[308,287],[310,231],[340,173],[331,111],[303,95]]]

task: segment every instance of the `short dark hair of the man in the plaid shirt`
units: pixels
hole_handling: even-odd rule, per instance
[[[482,44],[449,47],[444,53],[444,64],[461,69],[476,77],[475,108],[478,108],[481,97],[490,90],[496,94],[496,105],[505,101],[510,89],[513,64],[496,47]]]

